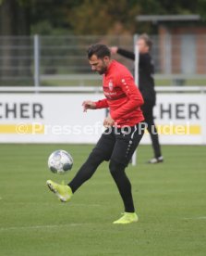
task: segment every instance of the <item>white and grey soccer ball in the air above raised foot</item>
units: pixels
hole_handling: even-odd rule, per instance
[[[73,159],[71,155],[62,149],[53,152],[48,159],[48,167],[52,173],[65,174],[71,170]]]

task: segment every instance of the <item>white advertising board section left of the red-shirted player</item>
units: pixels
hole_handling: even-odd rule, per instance
[[[103,96],[102,96],[103,97]],[[93,143],[103,131],[105,109],[83,112],[94,94],[1,96],[0,141],[6,143]]]

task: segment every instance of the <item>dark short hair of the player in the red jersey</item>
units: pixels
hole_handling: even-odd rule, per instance
[[[111,57],[110,49],[106,45],[101,44],[91,45],[87,50],[87,54],[89,59],[92,55],[96,55],[97,58]]]

